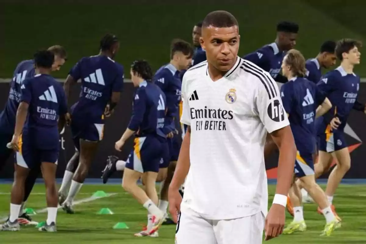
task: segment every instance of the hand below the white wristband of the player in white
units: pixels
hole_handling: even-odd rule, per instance
[[[268,211],[264,224],[266,233],[265,241],[275,238],[282,234],[285,226],[285,207],[280,204],[273,204]]]

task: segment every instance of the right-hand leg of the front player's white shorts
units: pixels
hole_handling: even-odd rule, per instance
[[[262,212],[259,212],[244,218],[214,220],[213,230],[218,244],[261,244],[264,230],[264,215]]]

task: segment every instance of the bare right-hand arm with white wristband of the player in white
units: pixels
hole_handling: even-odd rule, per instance
[[[296,146],[290,125],[273,131],[271,134],[273,141],[279,148],[279,163],[277,173],[276,195],[273,205],[270,208],[265,223],[265,240],[278,237],[285,225],[285,207],[276,203],[278,197],[283,196],[287,201],[287,194],[294,177],[294,164],[296,160]]]

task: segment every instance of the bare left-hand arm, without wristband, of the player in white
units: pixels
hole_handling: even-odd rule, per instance
[[[191,140],[191,127],[188,126],[186,135],[182,141],[182,147],[180,147],[177,166],[174,171],[172,182],[169,185],[168,200],[169,200],[169,212],[176,223],[178,221],[178,214],[180,212],[180,203],[182,203],[182,196],[179,193],[180,186],[184,183],[187,177],[190,160],[189,160],[189,147]]]

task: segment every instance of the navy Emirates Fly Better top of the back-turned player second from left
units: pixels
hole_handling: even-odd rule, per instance
[[[24,80],[21,101],[29,104],[23,134],[40,149],[59,145],[58,119],[67,112],[63,87],[51,75],[38,74]]]

